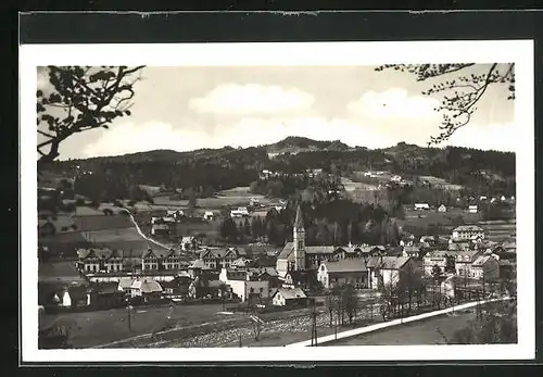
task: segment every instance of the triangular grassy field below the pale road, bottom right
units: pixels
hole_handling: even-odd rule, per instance
[[[429,318],[394,326],[358,337],[342,339],[323,345],[415,345],[445,344],[456,330],[464,328],[475,317],[473,311]]]

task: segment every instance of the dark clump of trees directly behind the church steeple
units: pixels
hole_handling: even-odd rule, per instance
[[[304,214],[307,246],[340,246],[349,242],[397,246],[400,241],[397,225],[381,206],[346,200],[317,205],[307,202],[300,204]],[[220,236],[230,243],[267,238],[269,243],[283,246],[287,241],[292,241],[296,205],[296,202],[292,202],[280,212],[272,209],[264,218],[255,216],[240,224],[226,217],[220,225]]]

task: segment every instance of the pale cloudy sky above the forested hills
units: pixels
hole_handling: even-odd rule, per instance
[[[483,72],[484,65],[473,72]],[[61,160],[156,149],[251,147],[287,136],[386,148],[426,146],[440,131],[433,81],[374,66],[157,67],[135,84],[131,115],[109,129],[76,134],[61,144]],[[38,72],[38,87],[47,78]],[[514,151],[514,101],[505,86],[489,87],[469,125],[449,144]]]

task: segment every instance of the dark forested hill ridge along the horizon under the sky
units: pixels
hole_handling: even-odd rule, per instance
[[[75,167],[79,166],[78,169]],[[368,169],[429,175],[467,187],[498,185],[514,190],[515,154],[447,147],[424,148],[399,143],[386,149],[350,147],[341,141],[289,137],[251,148],[200,149],[191,152],[154,150],[118,156],[56,162],[52,169],[75,176],[92,172],[96,179],[114,179],[123,186],[157,185],[198,191],[249,186],[263,169],[303,173],[334,169],[344,177]],[[113,178],[115,177],[115,178]],[[512,193],[513,194],[513,193]]]

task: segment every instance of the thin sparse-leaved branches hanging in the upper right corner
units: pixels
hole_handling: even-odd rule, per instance
[[[491,85],[506,86],[504,97],[515,99],[515,63],[490,64],[479,74],[473,68],[476,63],[455,64],[386,64],[376,71],[393,68],[395,71],[414,74],[417,81],[432,81],[433,84],[422,95],[434,96],[442,93],[443,100],[434,110],[443,114],[440,126],[441,134],[431,137],[429,144],[439,144],[447,140],[458,128],[467,125],[476,112],[476,104]],[[471,71],[471,72],[470,72]],[[454,75],[453,75],[454,74]]]

